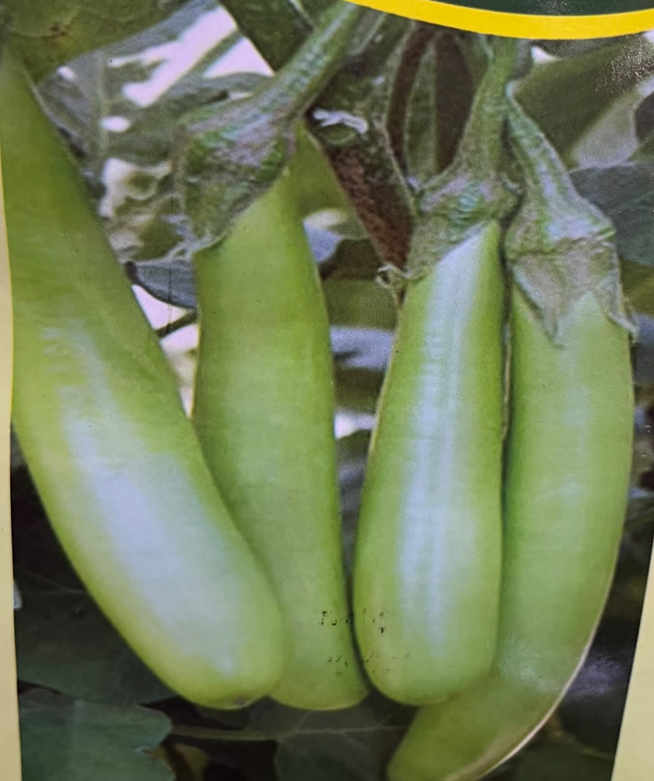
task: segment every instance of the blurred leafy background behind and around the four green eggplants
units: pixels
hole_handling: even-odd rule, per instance
[[[60,27],[52,13],[26,16],[20,3],[5,5],[44,108],[84,173],[190,411],[196,301],[190,253],[175,230],[176,123],[198,105],[248,95],[286,61],[329,0],[232,0],[233,16],[214,0],[113,0],[100,13],[99,4],[83,10],[76,0],[58,0],[49,9],[60,14]],[[360,41],[363,54],[353,56],[350,77],[341,77],[347,89],[336,84],[322,114],[310,112],[293,159],[332,324],[348,567],[396,326],[393,299],[375,277],[406,249],[412,194],[450,161],[480,67],[464,34],[378,16],[383,46],[366,59]],[[521,59],[519,98],[581,194],[617,227],[624,287],[641,332],[631,501],[610,601],[565,701],[526,750],[489,776],[496,781],[609,781],[613,766],[654,534],[652,41],[531,41]],[[359,183],[367,206],[339,184],[343,149],[374,174]],[[384,224],[371,230],[375,216]],[[151,676],[87,597],[15,442],[12,514],[24,781],[382,779],[411,708],[378,694],[333,714],[268,700],[238,712],[195,708]]]

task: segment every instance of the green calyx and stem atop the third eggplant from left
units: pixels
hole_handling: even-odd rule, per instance
[[[498,38],[479,85],[457,154],[425,186],[419,202],[411,253],[404,276],[424,276],[479,226],[503,219],[515,195],[499,174],[506,120],[506,84],[514,74],[517,42]]]

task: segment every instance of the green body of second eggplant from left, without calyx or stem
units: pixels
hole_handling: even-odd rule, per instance
[[[290,637],[272,696],[313,710],[356,704],[366,687],[343,574],[329,327],[290,177],[195,267],[197,432]]]

